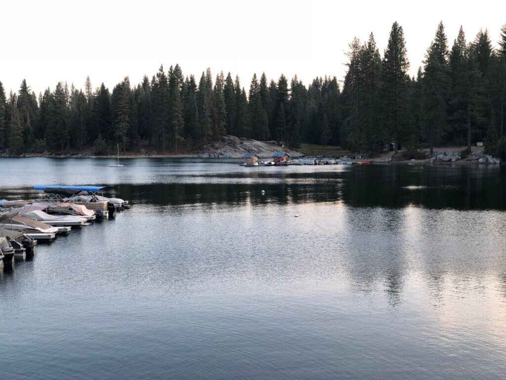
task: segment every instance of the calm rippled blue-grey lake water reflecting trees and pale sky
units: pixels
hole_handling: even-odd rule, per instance
[[[506,376],[504,168],[113,161],[0,159],[135,204],[4,270],[0,378]]]

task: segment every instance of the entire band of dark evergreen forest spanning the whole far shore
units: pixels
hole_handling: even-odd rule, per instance
[[[494,50],[487,30],[467,42],[460,28],[451,49],[442,23],[415,78],[402,27],[392,26],[383,57],[371,33],[350,44],[343,89],[335,77],[306,87],[284,75],[268,81],[255,74],[246,93],[239,78],[209,69],[197,81],[179,65],[132,86],[126,77],[112,93],[58,83],[38,97],[23,80],[6,96],[0,82],[0,150],[13,154],[92,148],[105,153],[150,145],[166,153],[197,149],[225,134],[341,145],[358,153],[468,145],[484,141],[506,151],[506,25]]]

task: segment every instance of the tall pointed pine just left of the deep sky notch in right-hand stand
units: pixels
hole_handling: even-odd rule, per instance
[[[399,145],[409,137],[408,129],[408,80],[409,62],[402,26],[392,25],[385,57],[383,59],[383,101],[384,122],[395,143],[397,154]]]

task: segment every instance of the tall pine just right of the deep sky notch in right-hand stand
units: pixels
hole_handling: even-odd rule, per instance
[[[446,124],[446,104],[450,87],[448,43],[443,23],[440,22],[436,36],[427,50],[423,84],[423,109],[426,136],[431,148],[441,138]]]

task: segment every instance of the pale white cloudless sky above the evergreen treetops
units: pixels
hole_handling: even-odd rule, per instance
[[[502,5],[500,5],[502,4]],[[2,1],[0,81],[18,91],[26,78],[38,94],[58,81],[112,87],[129,75],[137,84],[160,63],[179,63],[200,78],[210,67],[239,74],[247,89],[254,72],[277,79],[298,74],[342,80],[354,36],[372,31],[383,51],[394,21],[404,28],[415,74],[440,20],[451,47],[462,24],[468,40],[488,28],[494,46],[506,23],[506,3],[482,0],[370,1]]]

